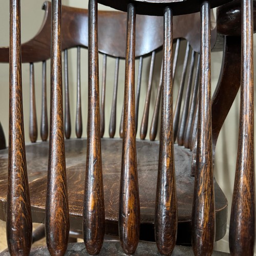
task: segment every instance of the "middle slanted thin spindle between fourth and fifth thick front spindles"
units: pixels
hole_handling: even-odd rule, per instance
[[[144,104],[144,111],[143,111],[142,120],[141,120],[141,126],[140,126],[140,139],[142,139],[142,140],[144,140],[145,137],[146,137],[147,124],[148,124],[148,115],[150,114],[150,97],[151,97],[151,88],[152,88],[155,56],[156,56],[156,52],[153,51],[152,55],[151,55],[150,74],[148,76],[146,99],[145,99],[145,104]]]

